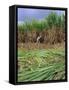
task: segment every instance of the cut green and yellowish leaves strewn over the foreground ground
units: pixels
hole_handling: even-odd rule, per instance
[[[18,82],[65,79],[63,48],[18,49]]]

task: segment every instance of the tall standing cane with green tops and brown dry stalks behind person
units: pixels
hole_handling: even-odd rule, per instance
[[[18,25],[18,41],[36,42],[36,38],[41,34],[44,43],[58,43],[64,41],[65,16],[51,12],[42,20],[33,19]]]

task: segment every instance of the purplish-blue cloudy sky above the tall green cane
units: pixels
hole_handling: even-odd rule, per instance
[[[18,8],[18,23],[24,23],[26,20],[31,21],[32,19],[41,20],[51,12],[56,12],[58,15],[65,13],[62,10]]]

